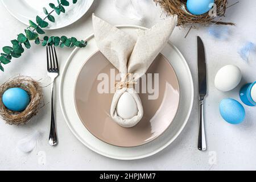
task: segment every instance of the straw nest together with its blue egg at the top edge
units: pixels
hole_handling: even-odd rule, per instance
[[[201,9],[209,9],[206,10],[206,12],[203,10],[203,14],[200,13],[202,11],[199,9],[200,6],[205,3],[205,0],[202,0],[202,2],[195,0],[154,1],[156,4],[159,4],[168,15],[178,16],[177,26],[195,26],[195,24],[203,24],[204,26],[209,26],[210,24],[234,25],[233,23],[222,22],[222,17],[225,16],[226,8],[228,7],[228,0],[207,0],[209,1],[207,7],[201,7]],[[199,13],[191,13],[187,5],[191,6],[191,9],[197,9],[195,11],[199,11]]]

